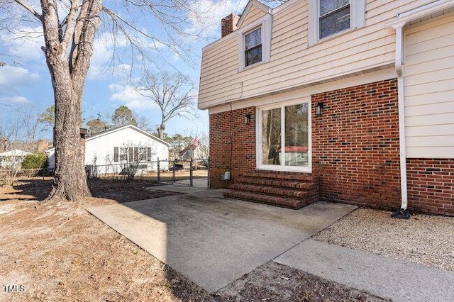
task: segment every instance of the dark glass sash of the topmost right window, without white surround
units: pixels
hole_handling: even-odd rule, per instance
[[[323,39],[350,28],[349,0],[320,0],[319,2],[319,38]]]

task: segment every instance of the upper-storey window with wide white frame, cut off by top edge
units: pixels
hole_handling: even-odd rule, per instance
[[[314,0],[309,4],[309,45],[365,25],[365,0]]]

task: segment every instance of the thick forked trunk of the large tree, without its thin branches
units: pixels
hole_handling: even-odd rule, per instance
[[[47,200],[80,201],[91,196],[85,174],[85,145],[80,135],[81,109],[102,4],[101,0],[70,3],[66,31],[62,33],[57,2],[41,0],[43,50],[55,98],[55,176]]]

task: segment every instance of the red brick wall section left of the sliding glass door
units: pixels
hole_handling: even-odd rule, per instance
[[[245,115],[251,114],[245,125]],[[232,126],[231,126],[232,121]],[[255,170],[255,107],[210,115],[210,184],[225,188],[221,180],[231,171],[233,179],[240,173]]]

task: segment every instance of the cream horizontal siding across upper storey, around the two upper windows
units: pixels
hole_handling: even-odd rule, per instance
[[[421,1],[412,0],[368,0],[364,27],[308,47],[307,1],[282,4],[282,9],[273,11],[267,64],[239,72],[238,38],[224,37],[204,48],[199,108],[391,67],[395,35],[384,23],[420,5]]]

